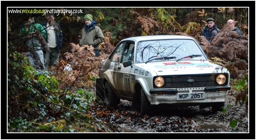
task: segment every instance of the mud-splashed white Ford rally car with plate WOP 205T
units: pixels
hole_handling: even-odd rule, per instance
[[[230,90],[229,71],[210,63],[195,39],[181,35],[123,39],[102,61],[99,75],[96,95],[106,106],[126,99],[142,114],[159,104],[221,110]]]

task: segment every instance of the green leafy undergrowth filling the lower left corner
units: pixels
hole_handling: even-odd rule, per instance
[[[94,78],[91,77],[93,81]],[[89,105],[95,100],[93,93],[86,90],[61,93],[58,81],[48,71],[35,70],[26,58],[18,52],[8,51],[8,118],[13,131],[26,131],[10,119],[20,116],[28,120],[52,122],[56,118],[73,120],[83,118],[81,113],[87,113]],[[65,95],[65,96],[63,96]],[[66,108],[63,108],[65,106]],[[70,108],[65,112],[64,109]],[[75,110],[75,111],[72,111]],[[20,127],[16,129],[16,127]],[[63,125],[40,126],[38,131],[63,132]],[[22,129],[22,130],[20,130]],[[11,129],[9,129],[12,131]],[[31,131],[31,130],[30,130]],[[65,130],[69,132],[70,130]],[[72,131],[72,129],[71,129]]]

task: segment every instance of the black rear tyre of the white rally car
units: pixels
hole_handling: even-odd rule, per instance
[[[117,106],[120,102],[120,99],[116,97],[108,82],[104,86],[104,98],[104,103],[107,107]]]

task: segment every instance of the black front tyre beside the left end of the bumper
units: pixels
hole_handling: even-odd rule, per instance
[[[151,110],[152,105],[148,101],[148,98],[146,97],[146,94],[144,90],[140,89],[140,113],[141,114],[152,114]]]

